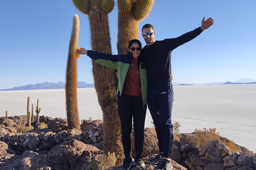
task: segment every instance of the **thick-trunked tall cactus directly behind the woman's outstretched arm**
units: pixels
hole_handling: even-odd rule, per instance
[[[84,14],[87,14],[91,29],[92,49],[111,54],[108,13],[114,8],[114,0],[73,0]],[[115,70],[92,61],[94,86],[103,112],[103,151],[115,152],[119,162],[123,157],[121,125],[117,112],[117,78]]]

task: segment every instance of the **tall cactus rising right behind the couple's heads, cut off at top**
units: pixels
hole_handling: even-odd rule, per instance
[[[139,21],[149,14],[154,0],[117,0],[118,3],[118,54],[125,54],[131,39],[139,39]],[[125,33],[124,33],[125,32]]]

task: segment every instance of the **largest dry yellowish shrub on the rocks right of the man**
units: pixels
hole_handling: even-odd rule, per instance
[[[212,140],[219,140],[219,132],[216,132],[215,128],[210,129],[195,129],[194,133],[196,134],[194,140],[196,141],[197,146],[199,149],[202,149],[207,143]]]

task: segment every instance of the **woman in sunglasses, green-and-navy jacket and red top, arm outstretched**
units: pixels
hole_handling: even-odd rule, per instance
[[[145,166],[141,153],[147,111],[147,72],[145,65],[138,62],[141,53],[140,41],[131,40],[128,48],[127,55],[108,55],[85,48],[77,48],[76,50],[78,54],[87,54],[95,62],[118,71],[119,80],[116,95],[118,96],[118,114],[125,155],[123,170],[130,169],[134,164],[134,159],[131,156],[132,117],[135,133],[135,164],[137,167]]]

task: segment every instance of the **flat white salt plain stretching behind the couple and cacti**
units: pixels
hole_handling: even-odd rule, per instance
[[[80,120],[102,120],[94,88],[77,89]],[[26,115],[27,98],[40,115],[66,118],[65,89],[0,91],[0,117]],[[222,137],[256,152],[256,84],[174,86],[173,121],[180,133],[216,128]],[[151,127],[149,111],[146,127]]]

